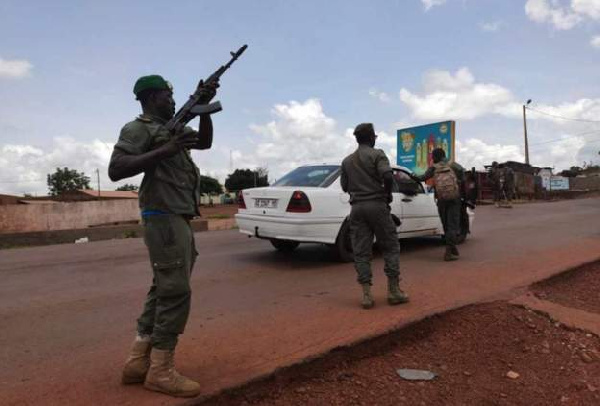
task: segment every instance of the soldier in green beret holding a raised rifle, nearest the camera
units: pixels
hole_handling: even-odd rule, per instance
[[[217,87],[205,87],[201,101],[208,103]],[[144,76],[133,92],[143,113],[121,130],[108,173],[113,181],[144,173],[139,201],[153,279],[122,382],[196,396],[200,385],[177,373],[174,351],[189,315],[190,276],[198,255],[190,220],[199,215],[200,173],[190,149],[211,147],[212,121],[201,116],[199,131],[185,127],[170,134],[163,126],[175,113],[170,83],[158,75]]]

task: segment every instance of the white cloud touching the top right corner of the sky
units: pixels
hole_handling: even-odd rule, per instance
[[[570,30],[586,19],[600,20],[600,1],[527,0],[525,14],[537,23],[550,23],[558,30]]]

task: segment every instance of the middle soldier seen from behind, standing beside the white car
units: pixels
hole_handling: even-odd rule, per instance
[[[400,289],[400,243],[389,206],[394,182],[390,161],[383,150],[374,148],[377,135],[373,124],[357,125],[354,135],[358,148],[342,162],[340,182],[350,194],[350,232],[354,266],[363,291],[361,305],[364,309],[375,305],[371,294],[374,236],[383,250],[388,303],[406,303],[408,296]]]

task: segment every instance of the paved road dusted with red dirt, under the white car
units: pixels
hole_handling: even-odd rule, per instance
[[[600,258],[600,199],[481,207],[458,262],[438,239],[403,243],[412,302],[371,311],[352,265],[326,248],[280,255],[236,231],[196,235],[193,308],[177,361],[211,393],[306,357],[476,301],[510,296]],[[150,270],[140,239],[0,251],[0,404],[177,404],[119,384]]]

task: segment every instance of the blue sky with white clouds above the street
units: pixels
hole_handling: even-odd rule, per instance
[[[215,143],[194,157],[279,177],[336,161],[371,121],[395,156],[398,128],[454,119],[457,160],[600,161],[600,0],[0,0],[0,193],[46,191],[45,175],[98,168],[139,113],[132,86],[159,73],[180,106],[242,44],[222,79]],[[584,135],[578,135],[584,133]],[[131,181],[130,181],[131,182]],[[134,183],[139,182],[135,179]]]

